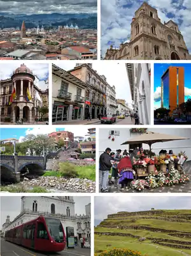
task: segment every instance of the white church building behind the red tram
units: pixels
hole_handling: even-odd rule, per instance
[[[74,235],[78,236],[78,239],[90,237],[90,204],[85,206],[86,215],[77,215],[73,197],[22,197],[21,200],[20,215],[9,223],[7,218],[4,232],[43,215],[58,218],[62,222],[65,233],[66,227],[73,227]]]

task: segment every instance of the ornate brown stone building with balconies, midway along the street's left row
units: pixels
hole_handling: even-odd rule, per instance
[[[106,91],[107,82],[104,75],[99,75],[96,70],[93,70],[92,64],[76,64],[73,70],[69,73],[78,77],[87,84],[85,88],[85,115],[87,119],[88,113],[92,119],[97,118],[98,114],[107,114],[106,110]]]

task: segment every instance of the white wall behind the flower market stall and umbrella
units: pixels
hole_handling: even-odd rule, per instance
[[[120,131],[120,136],[115,136],[115,141],[113,142],[111,139],[108,139],[110,135],[110,130]],[[180,137],[187,137],[190,140],[174,140],[171,142],[160,142],[152,145],[153,151],[158,154],[161,149],[166,149],[169,151],[173,150],[173,153],[177,154],[180,151],[185,151],[188,156],[188,160],[191,160],[191,129],[189,128],[148,128],[148,131],[165,133],[169,135],[176,135]],[[117,149],[127,149],[131,146],[123,145],[122,143],[139,135],[139,133],[130,133],[130,129],[125,128],[101,128],[99,129],[99,154],[103,153],[106,147],[110,147],[112,151],[116,151]],[[144,149],[148,149],[148,145],[143,144]]]

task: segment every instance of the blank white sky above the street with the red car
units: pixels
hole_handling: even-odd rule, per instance
[[[74,61],[59,61],[54,64],[66,71],[76,66],[76,62]],[[93,63],[92,68],[96,70],[99,75],[104,75],[110,86],[115,86],[116,98],[124,99],[128,103],[132,103],[125,63],[99,61],[98,63]]]

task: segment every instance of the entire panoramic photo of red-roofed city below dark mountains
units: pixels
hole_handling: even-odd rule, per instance
[[[0,1],[0,60],[97,59],[97,1]]]

